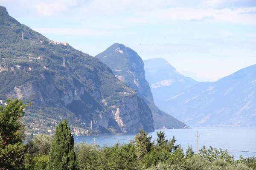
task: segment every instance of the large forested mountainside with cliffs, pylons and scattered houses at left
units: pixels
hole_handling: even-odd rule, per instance
[[[0,6],[0,102],[33,102],[26,123],[59,121],[100,132],[154,131],[151,110],[99,59],[54,42]]]

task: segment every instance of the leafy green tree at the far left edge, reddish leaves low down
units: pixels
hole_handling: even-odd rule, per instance
[[[18,99],[7,99],[6,103],[0,106],[0,168],[18,170],[23,168],[25,154],[21,143],[25,137],[24,125],[20,118],[28,105]]]

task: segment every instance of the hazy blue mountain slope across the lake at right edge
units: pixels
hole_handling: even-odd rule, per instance
[[[256,65],[170,97],[162,109],[188,125],[256,126]]]

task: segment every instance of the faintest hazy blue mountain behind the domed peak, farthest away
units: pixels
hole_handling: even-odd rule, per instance
[[[198,82],[190,77],[185,77],[163,58],[144,60],[145,76],[151,92],[154,96],[154,103],[161,105],[180,91],[184,91]]]

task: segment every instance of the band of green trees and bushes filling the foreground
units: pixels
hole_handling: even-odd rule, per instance
[[[203,147],[195,155],[189,145],[186,154],[176,139],[157,132],[151,141],[140,130],[128,144],[99,147],[85,142],[74,144],[67,119],[57,125],[55,136],[40,134],[27,143],[19,121],[22,100],[7,100],[0,106],[0,170],[255,170],[256,158],[235,160],[227,150]]]

